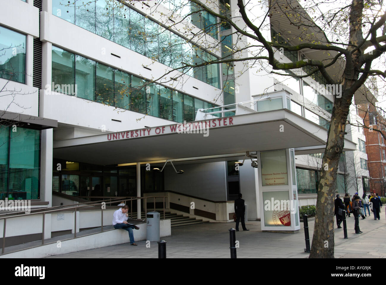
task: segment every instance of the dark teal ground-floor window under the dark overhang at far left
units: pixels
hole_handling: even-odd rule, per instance
[[[0,125],[0,200],[39,199],[40,131]]]

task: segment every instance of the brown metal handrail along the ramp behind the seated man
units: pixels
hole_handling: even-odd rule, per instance
[[[163,198],[163,212],[164,212],[164,219],[165,219],[165,197],[167,196],[147,196],[147,197],[135,197],[135,198],[129,198],[129,199],[124,199],[124,200],[114,200],[114,201],[110,201],[110,202],[104,202],[103,200],[101,200],[102,202],[104,202],[105,204],[111,204],[111,203],[115,203],[115,202],[127,202],[130,200],[131,202],[131,205],[132,205],[132,201],[133,200],[141,200],[141,199],[145,199],[145,222],[147,220],[147,217],[146,217],[146,212],[147,212],[147,198],[154,198],[154,211],[156,210],[156,198]],[[101,205],[101,203],[98,203],[98,202],[86,202],[86,203],[81,203],[81,204],[88,204],[88,203],[93,203],[93,204],[90,204],[90,205],[83,205],[83,206],[73,206],[73,207],[69,207],[69,208],[65,208],[64,210],[70,210],[70,209],[74,209],[74,238],[76,238],[76,211],[77,209],[80,209],[80,208],[85,208],[85,207],[90,207],[90,206],[94,206],[94,205]],[[126,203],[125,203],[126,204]],[[72,206],[72,205],[63,205],[63,206],[56,206],[56,207],[67,207],[67,206]],[[55,207],[55,208],[56,208]],[[54,208],[54,207],[52,207]],[[5,230],[6,230],[6,224],[7,224],[7,219],[12,219],[12,218],[17,218],[17,217],[23,217],[23,216],[30,216],[30,215],[37,215],[37,214],[42,214],[42,244],[44,244],[44,226],[45,226],[45,215],[47,213],[53,213],[53,212],[59,212],[59,211],[62,211],[63,209],[55,209],[55,210],[48,210],[50,208],[47,208],[47,210],[44,210],[44,211],[41,211],[41,212],[36,212],[36,213],[29,213],[29,214],[21,214],[21,215],[12,215],[10,217],[0,217],[0,220],[4,220],[4,224],[3,224],[3,245],[2,245],[2,254],[4,254],[4,249],[5,249]],[[132,208],[131,208],[132,209]],[[25,211],[22,211],[22,212],[25,212]],[[72,211],[71,211],[72,212]],[[132,211],[131,211],[132,212]],[[101,232],[103,232],[103,207],[101,207],[101,214],[102,214],[102,219],[101,219]],[[137,217],[138,218],[138,217]]]

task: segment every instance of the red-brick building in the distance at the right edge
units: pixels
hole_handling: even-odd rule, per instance
[[[361,161],[361,165],[369,169],[371,177],[369,181],[370,190],[384,196],[386,190],[386,145],[382,134],[375,130],[384,133],[386,119],[372,104],[357,105],[357,114],[364,118],[364,124],[366,126],[371,127],[370,125],[372,125],[374,129],[362,128],[366,137],[364,144],[366,145],[368,161]],[[359,125],[362,124],[363,122],[359,122]],[[358,129],[359,128],[360,127],[358,127]],[[361,142],[359,142],[359,144],[361,144]],[[367,166],[365,165],[366,163]]]

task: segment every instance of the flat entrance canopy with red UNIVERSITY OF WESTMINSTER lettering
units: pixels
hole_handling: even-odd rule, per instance
[[[54,157],[97,165],[206,156],[223,161],[224,155],[244,156],[245,151],[306,148],[312,153],[315,147],[313,153],[323,152],[326,140],[326,129],[280,109],[54,141]],[[344,151],[355,149],[345,140]]]

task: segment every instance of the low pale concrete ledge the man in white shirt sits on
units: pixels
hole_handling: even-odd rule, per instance
[[[171,220],[160,221],[160,237],[171,236]],[[140,224],[139,230],[135,230],[135,241],[146,240],[146,224]],[[59,237],[58,237],[59,238]],[[129,234],[124,230],[109,230],[83,236],[75,239],[60,241],[60,243],[51,243],[29,248],[13,253],[3,254],[0,258],[43,258],[56,254],[71,253],[86,249],[102,248],[116,244],[129,243]],[[59,247],[60,246],[60,247]]]

